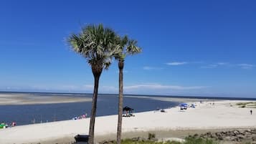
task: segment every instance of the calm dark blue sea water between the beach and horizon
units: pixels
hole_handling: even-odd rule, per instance
[[[11,92],[8,92],[11,94]],[[17,92],[15,92],[17,93]],[[64,94],[64,93],[38,93],[22,92],[27,95],[54,95],[72,97],[92,97],[91,94]],[[156,110],[156,108],[167,108],[179,105],[180,102],[165,102],[161,100],[151,100],[146,98],[148,95],[133,95],[136,97],[124,97],[123,105],[133,107],[135,112]],[[151,97],[151,96],[148,96]],[[156,97],[156,96],[154,96]],[[158,96],[166,97],[166,96]],[[216,97],[193,97],[217,99]],[[220,98],[241,100],[241,98]],[[247,100],[247,99],[246,99]],[[248,99],[249,100],[249,99]],[[32,123],[46,123],[58,120],[70,120],[72,117],[87,113],[90,115],[91,102],[72,102],[45,105],[0,105],[0,121],[11,123],[15,121],[17,125],[27,125]],[[97,116],[117,115],[118,114],[118,95],[98,95]],[[34,121],[34,122],[33,122]]]

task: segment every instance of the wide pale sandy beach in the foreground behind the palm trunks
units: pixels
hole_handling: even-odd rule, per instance
[[[135,117],[123,117],[124,137],[148,131],[163,135],[163,132],[174,130],[192,133],[194,130],[256,128],[256,114],[250,115],[249,108],[237,107],[237,102],[241,101],[215,101],[214,105],[197,102],[196,108],[183,111],[174,107],[166,112],[139,112]],[[96,117],[95,135],[98,140],[111,138],[110,135],[115,138],[117,118],[117,115]],[[73,140],[78,133],[87,134],[89,123],[90,119],[87,118],[7,128],[0,130],[0,143],[53,143],[52,140],[64,143]]]

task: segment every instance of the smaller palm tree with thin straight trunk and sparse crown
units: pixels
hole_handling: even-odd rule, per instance
[[[141,48],[137,47],[137,41],[129,40],[127,36],[117,37],[117,44],[119,45],[120,52],[115,55],[118,60],[119,68],[119,98],[118,98],[118,133],[117,143],[121,143],[122,134],[122,116],[123,116],[123,67],[125,57],[129,54],[138,54]]]

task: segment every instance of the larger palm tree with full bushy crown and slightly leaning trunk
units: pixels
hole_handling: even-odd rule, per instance
[[[108,69],[113,55],[120,53],[120,49],[116,45],[115,32],[104,28],[103,24],[87,25],[80,34],[71,34],[67,42],[75,52],[85,57],[93,72],[94,90],[89,129],[89,143],[93,144],[100,75],[103,69]]]

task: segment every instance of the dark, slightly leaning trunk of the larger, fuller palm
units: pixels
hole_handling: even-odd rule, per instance
[[[103,68],[101,67],[92,67],[93,76],[94,76],[94,90],[93,90],[93,102],[92,102],[92,110],[90,112],[90,129],[89,129],[89,144],[94,143],[94,126],[95,126],[95,116],[97,109],[97,97],[98,97],[98,87],[100,74]]]

